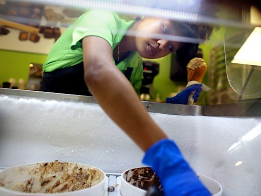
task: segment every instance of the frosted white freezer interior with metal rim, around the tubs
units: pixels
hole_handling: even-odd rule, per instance
[[[93,165],[105,171],[108,186],[116,186],[107,193],[117,195],[121,173],[144,166],[143,152],[93,97],[4,88],[0,93],[1,169],[55,160]],[[259,195],[260,101],[213,107],[142,103],[196,173],[220,184],[222,195]]]

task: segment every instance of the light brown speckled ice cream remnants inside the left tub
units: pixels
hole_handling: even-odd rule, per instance
[[[11,171],[20,176],[20,180],[10,180],[8,175],[2,175],[0,186],[27,193],[58,193],[89,188],[105,178],[101,170],[83,164],[56,161],[33,165],[19,166]]]

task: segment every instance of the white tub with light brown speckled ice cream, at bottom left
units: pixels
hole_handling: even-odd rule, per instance
[[[0,195],[103,196],[106,175],[93,166],[44,162],[7,168],[0,173]]]

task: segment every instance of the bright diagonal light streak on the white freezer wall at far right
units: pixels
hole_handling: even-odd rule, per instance
[[[261,124],[257,125],[254,129],[249,131],[247,134],[243,135],[240,140],[236,143],[233,143],[230,148],[227,150],[228,153],[233,153],[240,149],[245,143],[253,140],[261,133]]]

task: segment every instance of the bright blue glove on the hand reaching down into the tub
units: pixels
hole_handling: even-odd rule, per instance
[[[170,139],[153,144],[143,163],[152,167],[160,178],[165,196],[210,196],[196,174]]]

